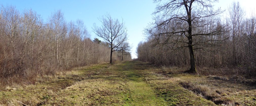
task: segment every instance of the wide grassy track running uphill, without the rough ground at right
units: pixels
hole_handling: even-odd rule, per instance
[[[82,67],[1,91],[0,105],[215,105],[152,70],[138,61]]]

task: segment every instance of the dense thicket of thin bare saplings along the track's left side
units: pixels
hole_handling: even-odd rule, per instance
[[[113,60],[119,60],[118,52]],[[129,54],[130,55],[130,54]],[[81,20],[66,22],[55,11],[43,21],[32,10],[2,6],[0,14],[0,86],[35,83],[37,78],[94,63],[109,62],[108,45],[91,41]],[[131,56],[124,56],[124,60]]]

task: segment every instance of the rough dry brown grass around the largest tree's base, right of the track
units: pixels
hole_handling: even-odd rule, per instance
[[[256,105],[255,78],[243,75],[239,68],[197,69],[199,75],[184,73],[188,69],[179,67],[161,66],[152,71],[217,105]]]

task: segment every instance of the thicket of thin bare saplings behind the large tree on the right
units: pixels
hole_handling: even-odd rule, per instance
[[[225,20],[220,20],[223,17],[216,17],[215,20],[204,18],[209,23],[207,26],[193,23],[195,26],[204,26],[193,28],[194,34],[207,33],[211,29],[215,29],[216,26],[225,26],[223,29],[225,31],[216,35],[193,36],[197,72],[205,75],[242,75],[255,80],[256,15],[245,17],[245,12],[242,11],[239,4],[231,6],[228,13]],[[177,28],[172,25],[172,22],[168,25],[168,28],[167,25],[165,28],[159,27],[154,33]],[[184,29],[187,27],[186,24],[179,25],[179,27],[184,26]],[[137,46],[136,52],[139,60],[157,65],[189,68],[190,57],[186,44],[187,38],[184,34],[148,35],[148,37],[147,41],[140,42]]]

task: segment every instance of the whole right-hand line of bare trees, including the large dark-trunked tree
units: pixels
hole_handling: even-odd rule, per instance
[[[155,22],[145,29],[148,40],[137,46],[138,59],[158,65],[190,65],[190,72],[196,72],[195,66],[235,66],[243,69],[240,73],[256,75],[256,15],[244,17],[239,2],[234,2],[221,20],[216,15],[222,11],[214,10],[213,2],[171,0],[158,5]]]

